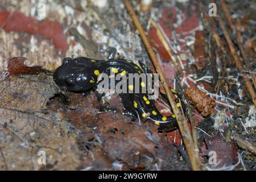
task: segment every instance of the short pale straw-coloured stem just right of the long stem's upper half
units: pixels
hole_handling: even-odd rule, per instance
[[[159,29],[158,25],[155,23],[154,20],[151,19],[151,23],[152,23],[152,26],[156,29],[156,34],[158,35],[158,38],[162,42],[164,49],[166,49],[168,55],[171,57],[171,60],[175,65],[176,69],[180,72],[180,75],[182,76],[183,71],[182,71],[179,63],[177,63],[177,60],[175,59],[174,55],[172,55],[171,47],[168,44],[166,38],[164,37],[163,32]]]

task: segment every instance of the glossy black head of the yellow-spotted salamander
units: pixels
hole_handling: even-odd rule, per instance
[[[98,72],[95,72],[94,67],[86,57],[65,57],[53,74],[53,80],[71,92],[84,92],[96,85]]]

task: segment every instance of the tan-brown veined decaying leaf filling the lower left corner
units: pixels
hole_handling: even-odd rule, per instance
[[[0,87],[0,169],[76,169],[78,130],[46,104],[54,96],[52,76],[9,77]],[[39,151],[47,165],[39,165]],[[40,159],[39,159],[40,160]]]

